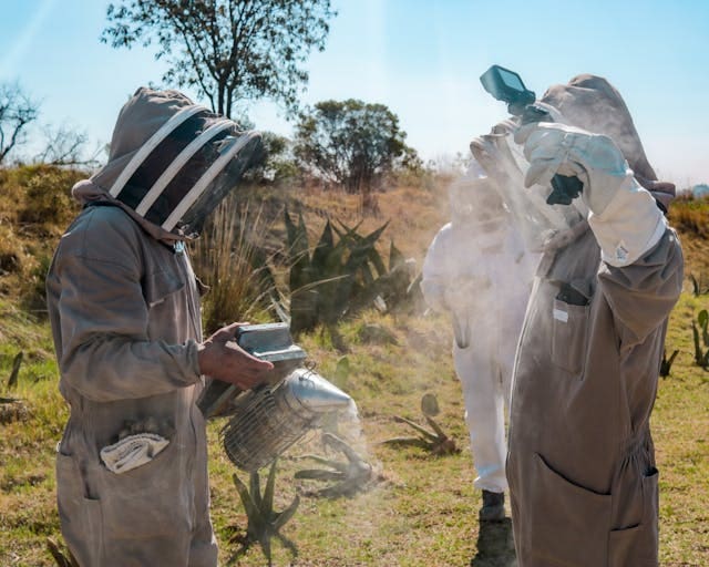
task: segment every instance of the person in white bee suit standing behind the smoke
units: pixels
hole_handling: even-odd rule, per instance
[[[449,190],[451,221],[429,247],[421,288],[453,321],[481,520],[505,517],[505,410],[535,255],[525,250],[494,184],[472,159]]]

